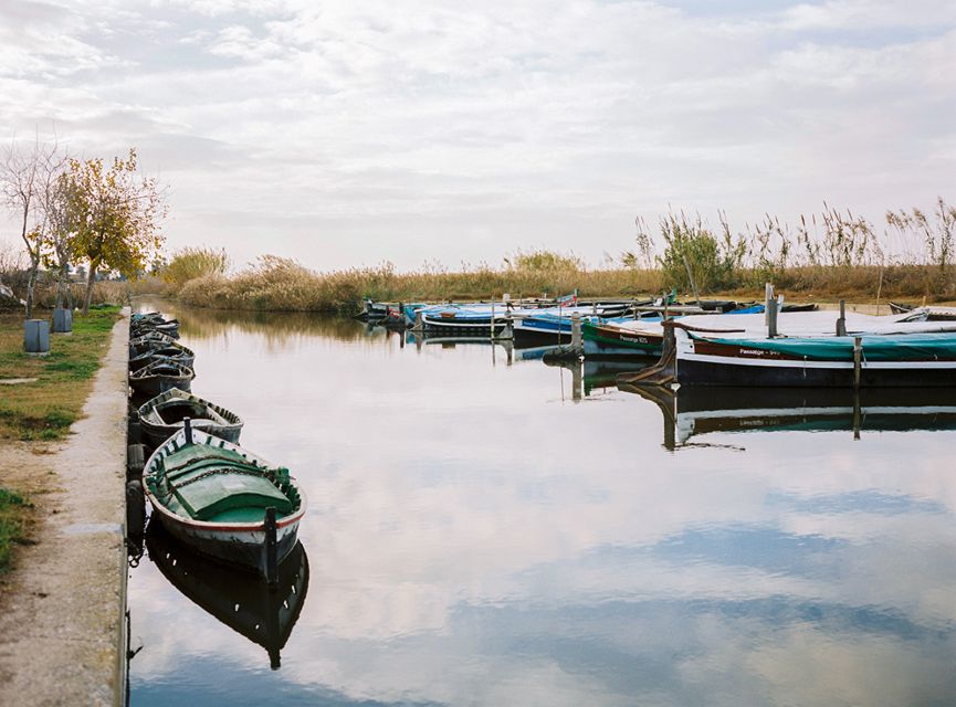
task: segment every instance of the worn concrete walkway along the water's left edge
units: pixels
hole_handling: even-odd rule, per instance
[[[55,490],[0,616],[0,705],[119,705],[126,651],[126,369],[113,329],[84,418],[45,457]]]

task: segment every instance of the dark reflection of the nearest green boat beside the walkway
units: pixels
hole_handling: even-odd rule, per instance
[[[158,523],[149,524],[146,548],[176,589],[233,631],[264,647],[273,669],[280,666],[280,651],[302,613],[308,590],[308,557],[301,542],[279,566],[279,581],[274,585],[230,567],[211,564]]]

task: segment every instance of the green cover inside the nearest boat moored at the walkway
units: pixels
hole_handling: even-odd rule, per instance
[[[265,468],[232,450],[193,444],[167,456],[164,466],[175,499],[196,520],[240,508],[274,506],[280,515],[294,509],[292,500],[265,477]]]

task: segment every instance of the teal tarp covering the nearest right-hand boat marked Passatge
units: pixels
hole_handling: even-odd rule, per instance
[[[853,337],[785,337],[778,339],[734,339],[703,337],[693,339],[778,351],[817,361],[852,361]],[[864,361],[933,361],[956,359],[956,334],[905,334],[861,337]]]

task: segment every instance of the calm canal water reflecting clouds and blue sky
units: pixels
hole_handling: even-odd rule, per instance
[[[183,558],[195,603],[151,541],[133,705],[956,704],[956,394],[854,424],[852,397],[654,401],[502,347],[159,308],[309,513],[271,608]],[[298,612],[281,668],[224,623],[246,611]]]

